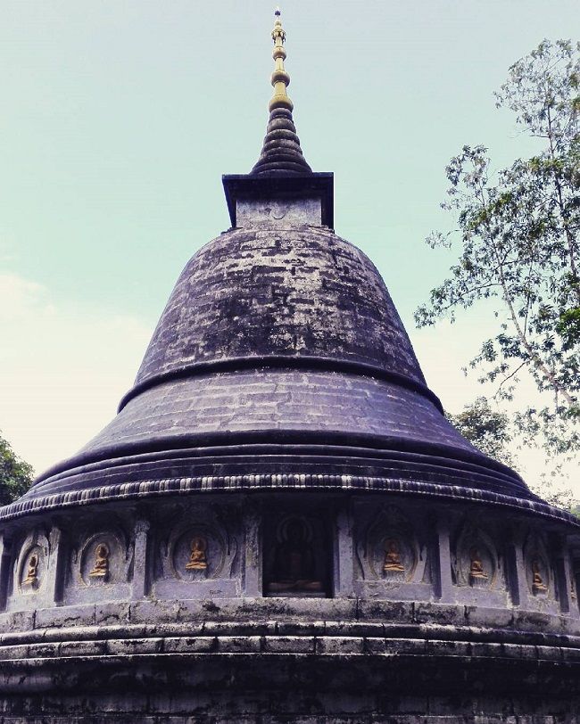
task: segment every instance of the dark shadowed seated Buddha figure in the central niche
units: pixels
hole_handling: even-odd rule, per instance
[[[295,519],[288,522],[284,538],[276,549],[270,575],[274,580],[267,586],[268,592],[322,591],[322,582],[316,580],[314,555],[303,523]]]

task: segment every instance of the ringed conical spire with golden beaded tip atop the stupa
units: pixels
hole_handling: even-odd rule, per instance
[[[272,73],[274,95],[269,102],[269,123],[260,158],[251,173],[253,175],[310,174],[312,169],[302,155],[300,139],[296,136],[296,127],[292,119],[294,104],[286,93],[286,87],[290,83],[290,76],[284,69],[286,32],[282,28],[279,9],[274,14],[276,16],[272,30],[274,40],[272,57],[276,62],[276,68]]]

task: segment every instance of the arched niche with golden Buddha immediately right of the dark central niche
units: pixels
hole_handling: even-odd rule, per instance
[[[358,540],[357,559],[365,580],[421,581],[426,558],[409,519],[396,506],[383,506]]]

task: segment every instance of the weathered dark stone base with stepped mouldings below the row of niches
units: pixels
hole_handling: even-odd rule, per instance
[[[288,598],[4,614],[0,720],[572,722],[580,638],[567,623]]]

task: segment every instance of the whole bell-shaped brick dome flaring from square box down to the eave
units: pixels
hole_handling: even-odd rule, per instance
[[[334,476],[317,481],[320,460]],[[369,259],[325,226],[254,219],[188,262],[119,415],[17,505],[70,506],[90,489],[111,498],[119,484],[124,496],[158,493],[159,481],[170,493],[208,476],[268,486],[282,470],[288,487],[288,473],[316,487],[385,485],[403,461],[410,490],[541,506],[445,419]]]

